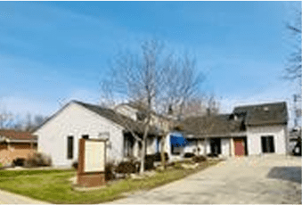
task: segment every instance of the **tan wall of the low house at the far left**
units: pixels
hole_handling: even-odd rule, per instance
[[[30,143],[0,144],[0,163],[10,163],[16,158],[27,159],[29,154],[34,152],[36,149],[32,148]]]

